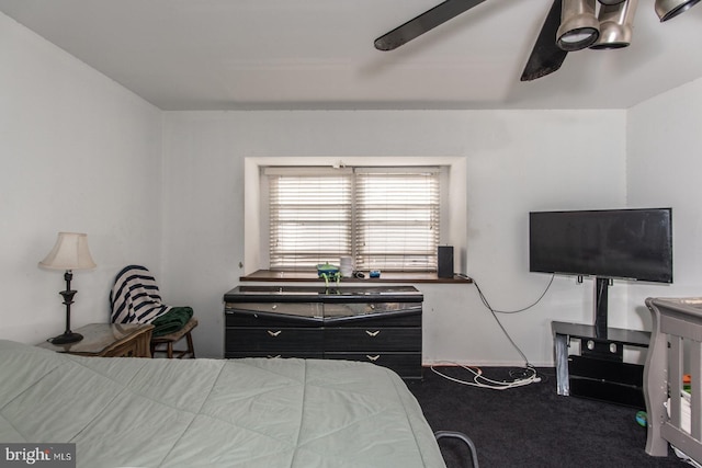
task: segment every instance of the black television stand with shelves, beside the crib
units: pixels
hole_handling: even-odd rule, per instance
[[[624,346],[647,349],[650,333],[581,323],[551,322],[558,395],[644,409],[644,366],[624,362]],[[604,332],[605,331],[605,332]],[[580,354],[569,354],[570,341]]]

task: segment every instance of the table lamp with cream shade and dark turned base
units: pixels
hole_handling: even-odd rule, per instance
[[[90,250],[88,250],[88,235],[78,232],[59,232],[54,249],[39,262],[39,266],[49,270],[65,270],[66,290],[59,294],[64,296],[66,305],[66,331],[48,341],[53,344],[76,343],[83,339],[80,333],[70,330],[70,305],[77,290],[70,288],[73,270],[90,270],[95,267]]]

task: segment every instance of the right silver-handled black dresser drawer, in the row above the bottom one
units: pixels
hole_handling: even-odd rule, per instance
[[[421,329],[327,328],[325,351],[421,351]]]

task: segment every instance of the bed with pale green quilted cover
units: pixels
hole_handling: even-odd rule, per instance
[[[0,443],[78,467],[444,467],[404,381],[367,363],[83,357],[0,340]]]

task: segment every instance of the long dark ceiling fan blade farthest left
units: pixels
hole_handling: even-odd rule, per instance
[[[427,31],[445,23],[458,14],[471,10],[485,0],[446,0],[431,10],[427,10],[419,16],[409,20],[375,39],[375,48],[378,50],[393,50],[424,34]],[[555,33],[554,33],[555,34]]]

